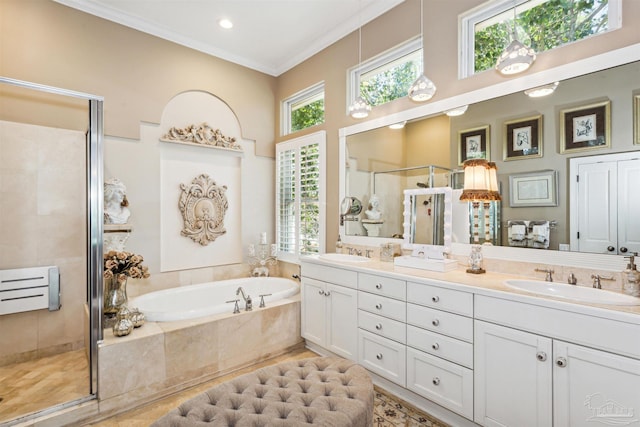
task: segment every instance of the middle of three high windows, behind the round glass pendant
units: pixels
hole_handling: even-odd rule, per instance
[[[381,105],[407,96],[422,71],[422,43],[412,39],[349,70],[347,105],[358,97]]]

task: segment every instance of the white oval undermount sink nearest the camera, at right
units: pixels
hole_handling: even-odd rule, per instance
[[[519,291],[563,298],[571,301],[609,305],[640,305],[640,298],[602,289],[540,280],[505,280],[505,285]]]

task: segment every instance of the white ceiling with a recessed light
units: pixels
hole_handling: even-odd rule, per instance
[[[278,76],[404,0],[54,1]]]

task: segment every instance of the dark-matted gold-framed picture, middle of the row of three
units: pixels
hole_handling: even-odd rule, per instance
[[[542,157],[542,114],[504,122],[504,160]]]

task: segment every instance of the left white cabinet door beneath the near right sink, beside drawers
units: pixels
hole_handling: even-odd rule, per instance
[[[551,426],[551,340],[481,321],[474,338],[475,422]]]

